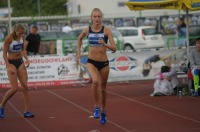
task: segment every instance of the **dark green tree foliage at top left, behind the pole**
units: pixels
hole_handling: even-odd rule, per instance
[[[12,17],[38,16],[38,0],[10,0]],[[40,15],[66,15],[66,0],[40,0]],[[0,0],[0,8],[7,8],[7,0]]]

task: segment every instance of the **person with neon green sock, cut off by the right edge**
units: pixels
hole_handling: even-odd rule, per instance
[[[190,52],[190,67],[194,80],[194,94],[198,96],[199,75],[200,75],[200,37],[196,39],[196,48]]]

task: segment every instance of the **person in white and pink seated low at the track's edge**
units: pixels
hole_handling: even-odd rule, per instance
[[[176,68],[162,66],[159,74],[155,75],[154,92],[151,96],[173,95],[178,85]]]

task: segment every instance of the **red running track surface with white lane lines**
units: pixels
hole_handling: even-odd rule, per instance
[[[200,132],[200,97],[151,97],[153,81],[109,83],[108,122],[90,118],[91,84],[29,91],[35,118],[25,119],[21,92],[5,107],[0,132]],[[0,100],[7,89],[0,89]]]

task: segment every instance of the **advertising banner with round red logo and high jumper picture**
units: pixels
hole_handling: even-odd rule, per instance
[[[186,66],[186,49],[149,50],[129,53],[109,54],[109,82],[127,80],[148,80],[160,72],[167,63],[181,71]]]

